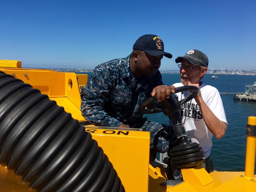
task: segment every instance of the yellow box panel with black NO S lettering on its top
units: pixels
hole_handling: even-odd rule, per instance
[[[85,129],[107,154],[126,191],[148,192],[149,132],[95,126]]]

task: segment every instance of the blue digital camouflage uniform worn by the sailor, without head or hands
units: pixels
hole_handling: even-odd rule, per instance
[[[81,113],[96,126],[119,127],[123,123],[130,128],[149,131],[150,148],[168,152],[177,140],[173,127],[147,121],[139,110],[151,97],[153,88],[163,85],[161,73],[157,71],[154,76],[135,78],[129,59],[130,55],[95,67],[83,91]]]

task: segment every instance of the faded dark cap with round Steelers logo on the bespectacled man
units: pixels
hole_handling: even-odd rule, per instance
[[[175,62],[180,63],[183,59],[187,60],[192,65],[202,65],[208,67],[209,63],[208,57],[203,52],[196,49],[190,50],[183,57],[177,57]]]

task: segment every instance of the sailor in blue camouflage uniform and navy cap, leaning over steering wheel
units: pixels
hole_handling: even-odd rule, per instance
[[[81,113],[85,119],[96,126],[142,128],[151,133],[153,154],[168,152],[177,140],[173,127],[147,121],[139,110],[153,89],[156,94],[171,93],[158,70],[163,55],[172,57],[164,52],[161,38],[144,35],[128,57],[96,66],[83,92]]]

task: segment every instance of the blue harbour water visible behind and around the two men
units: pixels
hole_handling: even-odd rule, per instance
[[[87,73],[90,76],[92,73]],[[245,85],[252,85],[256,76],[218,74],[218,79],[212,79],[206,74],[203,82],[216,87],[220,93],[244,93]],[[163,82],[172,85],[180,82],[180,75],[162,74]],[[256,103],[234,101],[234,95],[221,95],[225,109],[228,127],[225,136],[217,140],[213,136],[211,159],[216,171],[244,171],[247,135],[246,125],[249,116],[256,116]],[[147,114],[149,121],[168,124],[168,117],[163,113]]]

